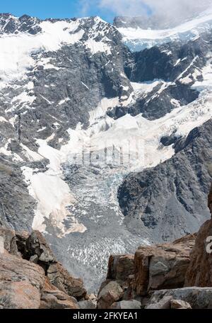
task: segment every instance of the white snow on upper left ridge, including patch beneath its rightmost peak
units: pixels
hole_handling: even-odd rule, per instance
[[[18,18],[9,16],[8,19],[16,22]],[[86,32],[84,29],[86,28],[85,20],[83,19],[76,19],[76,21],[36,21],[36,26],[40,28],[40,31],[35,35],[16,30],[13,33],[0,34],[0,86],[3,86],[2,81],[20,79],[29,67],[36,66],[32,54],[57,51],[65,44],[73,45],[81,41],[93,54],[107,52],[107,55],[110,55],[110,39],[107,38],[107,33],[104,34],[102,40],[96,40],[102,34],[100,25],[105,26],[106,23],[98,17],[94,19],[94,22],[94,25],[86,33],[88,40],[82,39]],[[8,22],[2,28],[3,32],[7,25]],[[49,59],[37,62],[45,68],[55,68],[54,65],[48,63]]]

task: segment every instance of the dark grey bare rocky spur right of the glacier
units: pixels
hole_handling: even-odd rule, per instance
[[[177,140],[174,157],[126,177],[119,188],[119,203],[133,232],[146,232],[148,239],[163,242],[196,232],[208,219],[211,129],[209,120],[186,139]]]

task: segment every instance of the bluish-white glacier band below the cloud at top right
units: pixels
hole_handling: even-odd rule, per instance
[[[122,34],[124,43],[133,51],[143,50],[144,48],[160,45],[165,42],[176,40],[194,40],[201,33],[211,30],[212,26],[212,8],[204,11],[196,18],[186,21],[175,28],[167,28],[162,30],[151,28],[117,28]]]

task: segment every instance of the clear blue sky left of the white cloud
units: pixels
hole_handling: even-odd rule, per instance
[[[84,5],[89,2],[89,0],[1,0],[0,12],[13,13],[15,16],[28,14],[42,19],[80,17],[86,14],[86,16],[101,16],[107,21],[112,21],[114,13],[105,8],[102,10],[93,5],[86,6],[86,11],[83,10]]]

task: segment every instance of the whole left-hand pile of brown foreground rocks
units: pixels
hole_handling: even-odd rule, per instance
[[[40,232],[1,227],[0,237],[0,308],[79,308],[77,300],[87,297],[83,281],[57,262]]]

